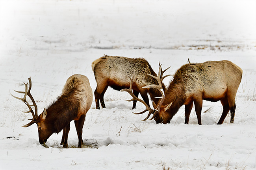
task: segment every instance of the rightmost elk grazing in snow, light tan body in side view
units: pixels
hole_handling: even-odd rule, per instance
[[[223,113],[218,124],[223,123],[229,110],[231,112],[230,123],[234,123],[235,98],[242,74],[243,70],[241,68],[227,60],[185,64],[176,71],[169,87],[162,93],[161,101],[157,106],[154,106],[155,109],[151,109],[149,105],[143,103],[147,107],[145,111],[149,111],[144,120],[147,120],[152,113],[153,116],[150,120],[154,119],[156,123],[169,123],[184,104],[185,123],[188,124],[194,102],[198,124],[202,124],[202,101],[206,100],[212,102],[221,101]],[[154,78],[160,81],[160,74]],[[151,85],[151,87],[159,91],[162,89],[161,85]],[[141,101],[131,93],[131,87],[122,91],[128,91],[133,97],[132,100]]]

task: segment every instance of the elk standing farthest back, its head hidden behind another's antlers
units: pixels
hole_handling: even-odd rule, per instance
[[[97,82],[97,87],[94,91],[97,109],[100,109],[100,104],[102,108],[106,107],[104,103],[104,93],[106,92],[108,86],[115,90],[129,88],[129,77],[134,77],[132,90],[136,97],[138,97],[140,93],[141,97],[148,106],[149,100],[147,94],[150,95],[151,100],[155,103],[158,103],[159,101],[159,99],[156,98],[161,96],[161,93],[158,90],[154,88],[143,88],[144,86],[148,86],[150,84],[158,84],[156,79],[148,75],[150,74],[156,76],[156,73],[144,58],[126,58],[104,55],[92,63],[92,69]],[[160,77],[161,85],[164,91],[165,86],[162,83],[162,80],[168,75],[164,77],[162,75],[167,69],[164,71],[161,70]],[[132,109],[135,108],[136,102],[137,101],[133,102]]]

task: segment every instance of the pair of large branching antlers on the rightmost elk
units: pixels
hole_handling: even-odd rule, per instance
[[[170,68],[170,67],[169,67]],[[169,69],[167,68],[167,69]],[[151,74],[148,74],[149,76],[153,77],[154,79],[156,79],[158,81],[158,85],[156,84],[150,84],[148,86],[144,86],[143,88],[156,88],[157,90],[160,91],[161,93],[161,97],[156,97],[156,98],[160,98],[161,100],[158,102],[158,105],[156,106],[156,108],[153,110],[150,108],[150,106],[147,105],[146,102],[144,102],[143,100],[135,97],[135,95],[132,93],[132,84],[133,84],[133,80],[129,77],[130,81],[131,81],[131,84],[130,84],[130,88],[129,89],[122,89],[121,91],[127,91],[131,96],[132,96],[132,99],[131,100],[126,100],[126,101],[139,101],[139,102],[142,102],[145,106],[146,106],[146,109],[143,111],[143,112],[140,112],[140,113],[134,113],[134,114],[142,114],[142,113],[145,113],[147,111],[149,111],[147,117],[145,119],[143,119],[143,121],[146,121],[151,114],[153,114],[153,117],[150,119],[154,119],[156,117],[156,115],[160,112],[160,107],[165,99],[165,95],[164,95],[164,91],[163,91],[163,87],[162,87],[162,81],[165,77],[169,76],[169,75],[166,75],[163,77],[163,73],[167,70],[165,69],[164,71],[162,70],[161,68],[161,64],[159,63],[159,71],[158,71],[158,76],[154,76],[154,75],[151,75]]]

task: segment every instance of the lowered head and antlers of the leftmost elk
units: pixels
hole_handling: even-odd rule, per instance
[[[32,87],[31,78],[28,78],[28,81],[29,81],[29,88],[28,88],[28,83],[24,83],[25,91],[16,91],[16,90],[14,90],[17,93],[24,94],[23,98],[19,98],[19,97],[13,96],[12,94],[11,95],[15,99],[21,100],[22,102],[24,102],[28,106],[29,110],[24,112],[24,113],[32,113],[32,117],[33,118],[32,119],[28,119],[28,120],[30,120],[30,122],[28,124],[23,125],[22,127],[26,128],[28,126],[31,126],[34,123],[37,124],[38,135],[39,135],[39,143],[43,144],[43,143],[45,143],[47,141],[47,139],[50,137],[50,135],[52,135],[52,133],[54,133],[54,130],[50,126],[50,124],[47,123],[46,109],[44,109],[43,113],[41,113],[39,116],[37,115],[37,105],[36,105],[35,100],[33,99],[32,95],[30,93],[30,90],[31,90],[31,87]],[[28,103],[28,101],[26,99],[27,96],[31,99],[33,104],[29,104]],[[34,111],[32,109],[32,106],[35,108],[35,113],[34,113]]]

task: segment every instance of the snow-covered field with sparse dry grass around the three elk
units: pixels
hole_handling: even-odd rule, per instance
[[[253,170],[256,169],[256,1],[0,1],[0,169]],[[69,148],[53,134],[39,144],[32,116],[11,97],[32,79],[38,112],[61,94],[73,74],[86,75],[107,55],[143,57],[167,74],[190,62],[230,60],[243,69],[234,124],[222,125],[221,102],[203,102],[202,125],[184,106],[170,124],[141,121],[147,115],[128,93],[111,88],[106,108],[95,99],[83,126],[83,148],[70,124]],[[169,84],[172,77],[164,80]],[[21,95],[20,95],[21,97]]]

